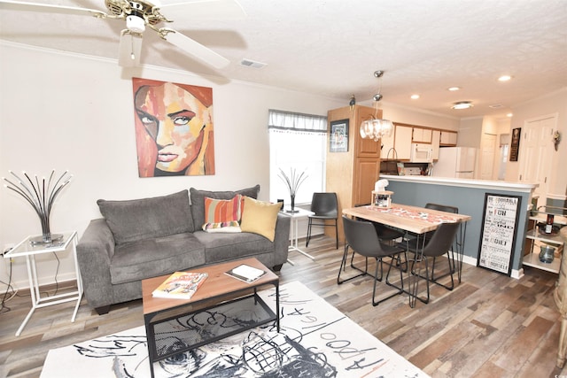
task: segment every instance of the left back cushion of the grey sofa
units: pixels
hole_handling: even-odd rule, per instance
[[[195,230],[187,189],[163,197],[97,201],[117,245]]]

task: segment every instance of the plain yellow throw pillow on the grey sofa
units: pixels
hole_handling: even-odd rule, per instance
[[[270,242],[276,235],[277,212],[282,204],[270,204],[251,197],[245,197],[245,206],[242,210],[240,229],[242,232],[252,232],[266,237]]]

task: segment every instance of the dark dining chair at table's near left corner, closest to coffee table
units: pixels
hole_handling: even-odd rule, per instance
[[[380,242],[378,239],[378,235],[376,233],[376,229],[372,222],[366,220],[351,220],[346,216],[343,216],[343,227],[345,229],[345,251],[343,253],[343,258],[340,263],[340,267],[338,269],[338,277],[337,283],[341,284],[343,282],[347,282],[353,280],[354,278],[361,277],[364,275],[369,275],[373,278],[374,287],[372,289],[372,305],[376,306],[380,303],[384,302],[386,299],[391,297],[395,297],[400,295],[404,292],[404,285],[403,285],[403,274],[402,270],[400,271],[400,288],[393,286],[389,282],[390,272],[392,270],[392,262],[395,259],[398,263],[400,262],[400,253],[404,252],[403,248],[400,248],[398,245],[388,245],[386,243]],[[348,249],[353,249],[353,253],[358,253],[364,258],[366,258],[366,269],[361,271],[360,274],[356,274],[351,276],[347,279],[341,280],[340,274],[346,268],[346,259],[348,256]],[[375,258],[376,259],[376,268],[374,271],[374,275],[369,274],[368,272],[368,258]],[[381,282],[384,277],[384,268],[383,268],[383,258],[390,258],[390,264],[388,267],[388,272],[386,273],[386,280],[385,283],[389,286],[396,288],[397,290],[387,296],[383,297],[379,300],[376,298],[376,291],[377,291],[377,282]],[[378,275],[379,271],[379,275]]]

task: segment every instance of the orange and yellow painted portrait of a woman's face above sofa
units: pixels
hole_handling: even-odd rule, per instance
[[[140,177],[214,174],[213,89],[132,79]]]

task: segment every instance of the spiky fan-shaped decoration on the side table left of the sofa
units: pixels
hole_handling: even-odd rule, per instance
[[[32,205],[35,213],[42,223],[42,235],[30,238],[30,243],[32,243],[32,245],[50,244],[63,239],[63,235],[51,234],[50,213],[53,208],[55,198],[58,197],[61,190],[65,188],[69,182],[71,182],[73,175],[69,175],[68,171],[65,171],[56,180],[54,177],[55,170],[53,170],[51,171],[49,180],[46,181],[45,177],[43,177],[42,180],[39,180],[37,176],[34,176],[34,180],[32,180],[32,178],[24,172],[23,174],[26,177],[26,180],[22,180],[12,171],[8,172],[12,174],[16,181],[13,179],[11,181],[3,177],[2,179],[7,182],[7,184],[4,184],[4,187],[15,191],[21,197],[24,197],[27,203]]]

